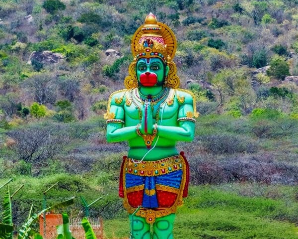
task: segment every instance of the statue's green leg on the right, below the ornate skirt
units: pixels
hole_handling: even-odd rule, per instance
[[[153,224],[153,239],[173,239],[175,214],[156,218]]]

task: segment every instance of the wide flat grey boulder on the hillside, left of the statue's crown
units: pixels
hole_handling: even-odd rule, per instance
[[[54,64],[64,60],[64,56],[60,53],[52,51],[33,51],[28,59],[28,64],[31,64],[31,59],[34,59],[43,64]]]

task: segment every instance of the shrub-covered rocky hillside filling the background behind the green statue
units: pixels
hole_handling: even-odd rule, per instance
[[[240,200],[226,215],[256,197],[275,205],[272,214],[245,211],[245,226],[235,214],[239,222],[221,221],[215,234],[211,220],[210,231],[197,235],[240,238],[265,218],[266,235],[255,238],[295,238],[298,219],[286,207],[297,212],[297,0],[1,0],[0,185],[9,178],[12,189],[25,184],[14,201],[15,226],[57,181],[51,200],[105,195],[91,215],[120,225],[127,218],[117,180],[128,145],[106,143],[103,113],[109,95],[124,88],[132,35],[150,11],[175,32],[181,88],[195,94],[200,112],[195,140],[177,145],[191,165],[186,215],[221,211],[192,201],[202,196],[198,188]],[[82,210],[78,201],[67,209],[74,217]],[[194,227],[178,216],[179,225]],[[275,227],[290,231],[270,235]]]

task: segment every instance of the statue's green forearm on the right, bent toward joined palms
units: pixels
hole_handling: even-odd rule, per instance
[[[157,135],[174,141],[192,141],[194,139],[194,123],[189,122],[183,127],[158,125]]]

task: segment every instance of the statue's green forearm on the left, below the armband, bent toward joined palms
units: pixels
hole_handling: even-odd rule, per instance
[[[112,124],[107,125],[107,142],[120,142],[137,137],[136,126],[117,127]]]

